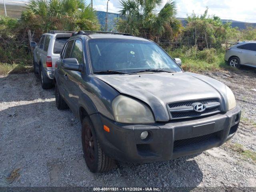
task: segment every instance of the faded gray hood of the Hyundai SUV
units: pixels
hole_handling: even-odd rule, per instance
[[[226,86],[207,76],[190,72],[150,73],[134,75],[96,75],[121,94],[146,102],[156,121],[170,119],[167,104],[202,98],[223,100]]]

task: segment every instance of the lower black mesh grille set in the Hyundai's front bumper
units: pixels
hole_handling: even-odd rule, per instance
[[[200,144],[200,143],[212,140],[212,139],[216,139],[216,138],[218,138],[218,133],[219,132],[214,132],[214,133],[199,136],[199,137],[176,140],[176,141],[174,141],[174,149],[180,148],[180,147],[187,147],[187,146],[191,146],[191,145],[195,145],[195,144]]]

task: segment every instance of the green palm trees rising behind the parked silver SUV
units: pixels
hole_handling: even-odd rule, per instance
[[[26,8],[42,21],[42,31],[99,29],[96,11],[85,0],[30,0]]]

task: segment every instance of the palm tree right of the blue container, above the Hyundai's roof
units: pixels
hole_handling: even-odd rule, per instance
[[[118,22],[118,30],[137,36],[159,37],[172,29],[176,16],[176,2],[163,0],[120,0],[120,15],[124,20]],[[162,7],[162,8],[160,8]]]

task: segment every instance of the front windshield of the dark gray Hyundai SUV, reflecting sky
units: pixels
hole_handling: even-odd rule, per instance
[[[129,39],[90,39],[88,46],[93,72],[107,70],[125,73],[143,72],[144,70],[182,71],[170,56],[153,42]]]

